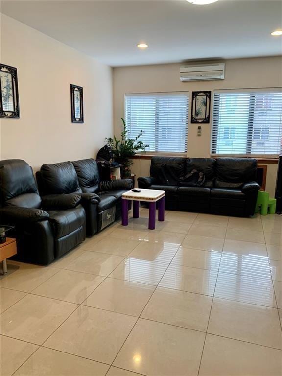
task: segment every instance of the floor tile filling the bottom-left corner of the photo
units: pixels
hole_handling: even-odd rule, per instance
[[[24,361],[38,349],[38,346],[15,338],[0,336],[0,375],[11,376]]]

